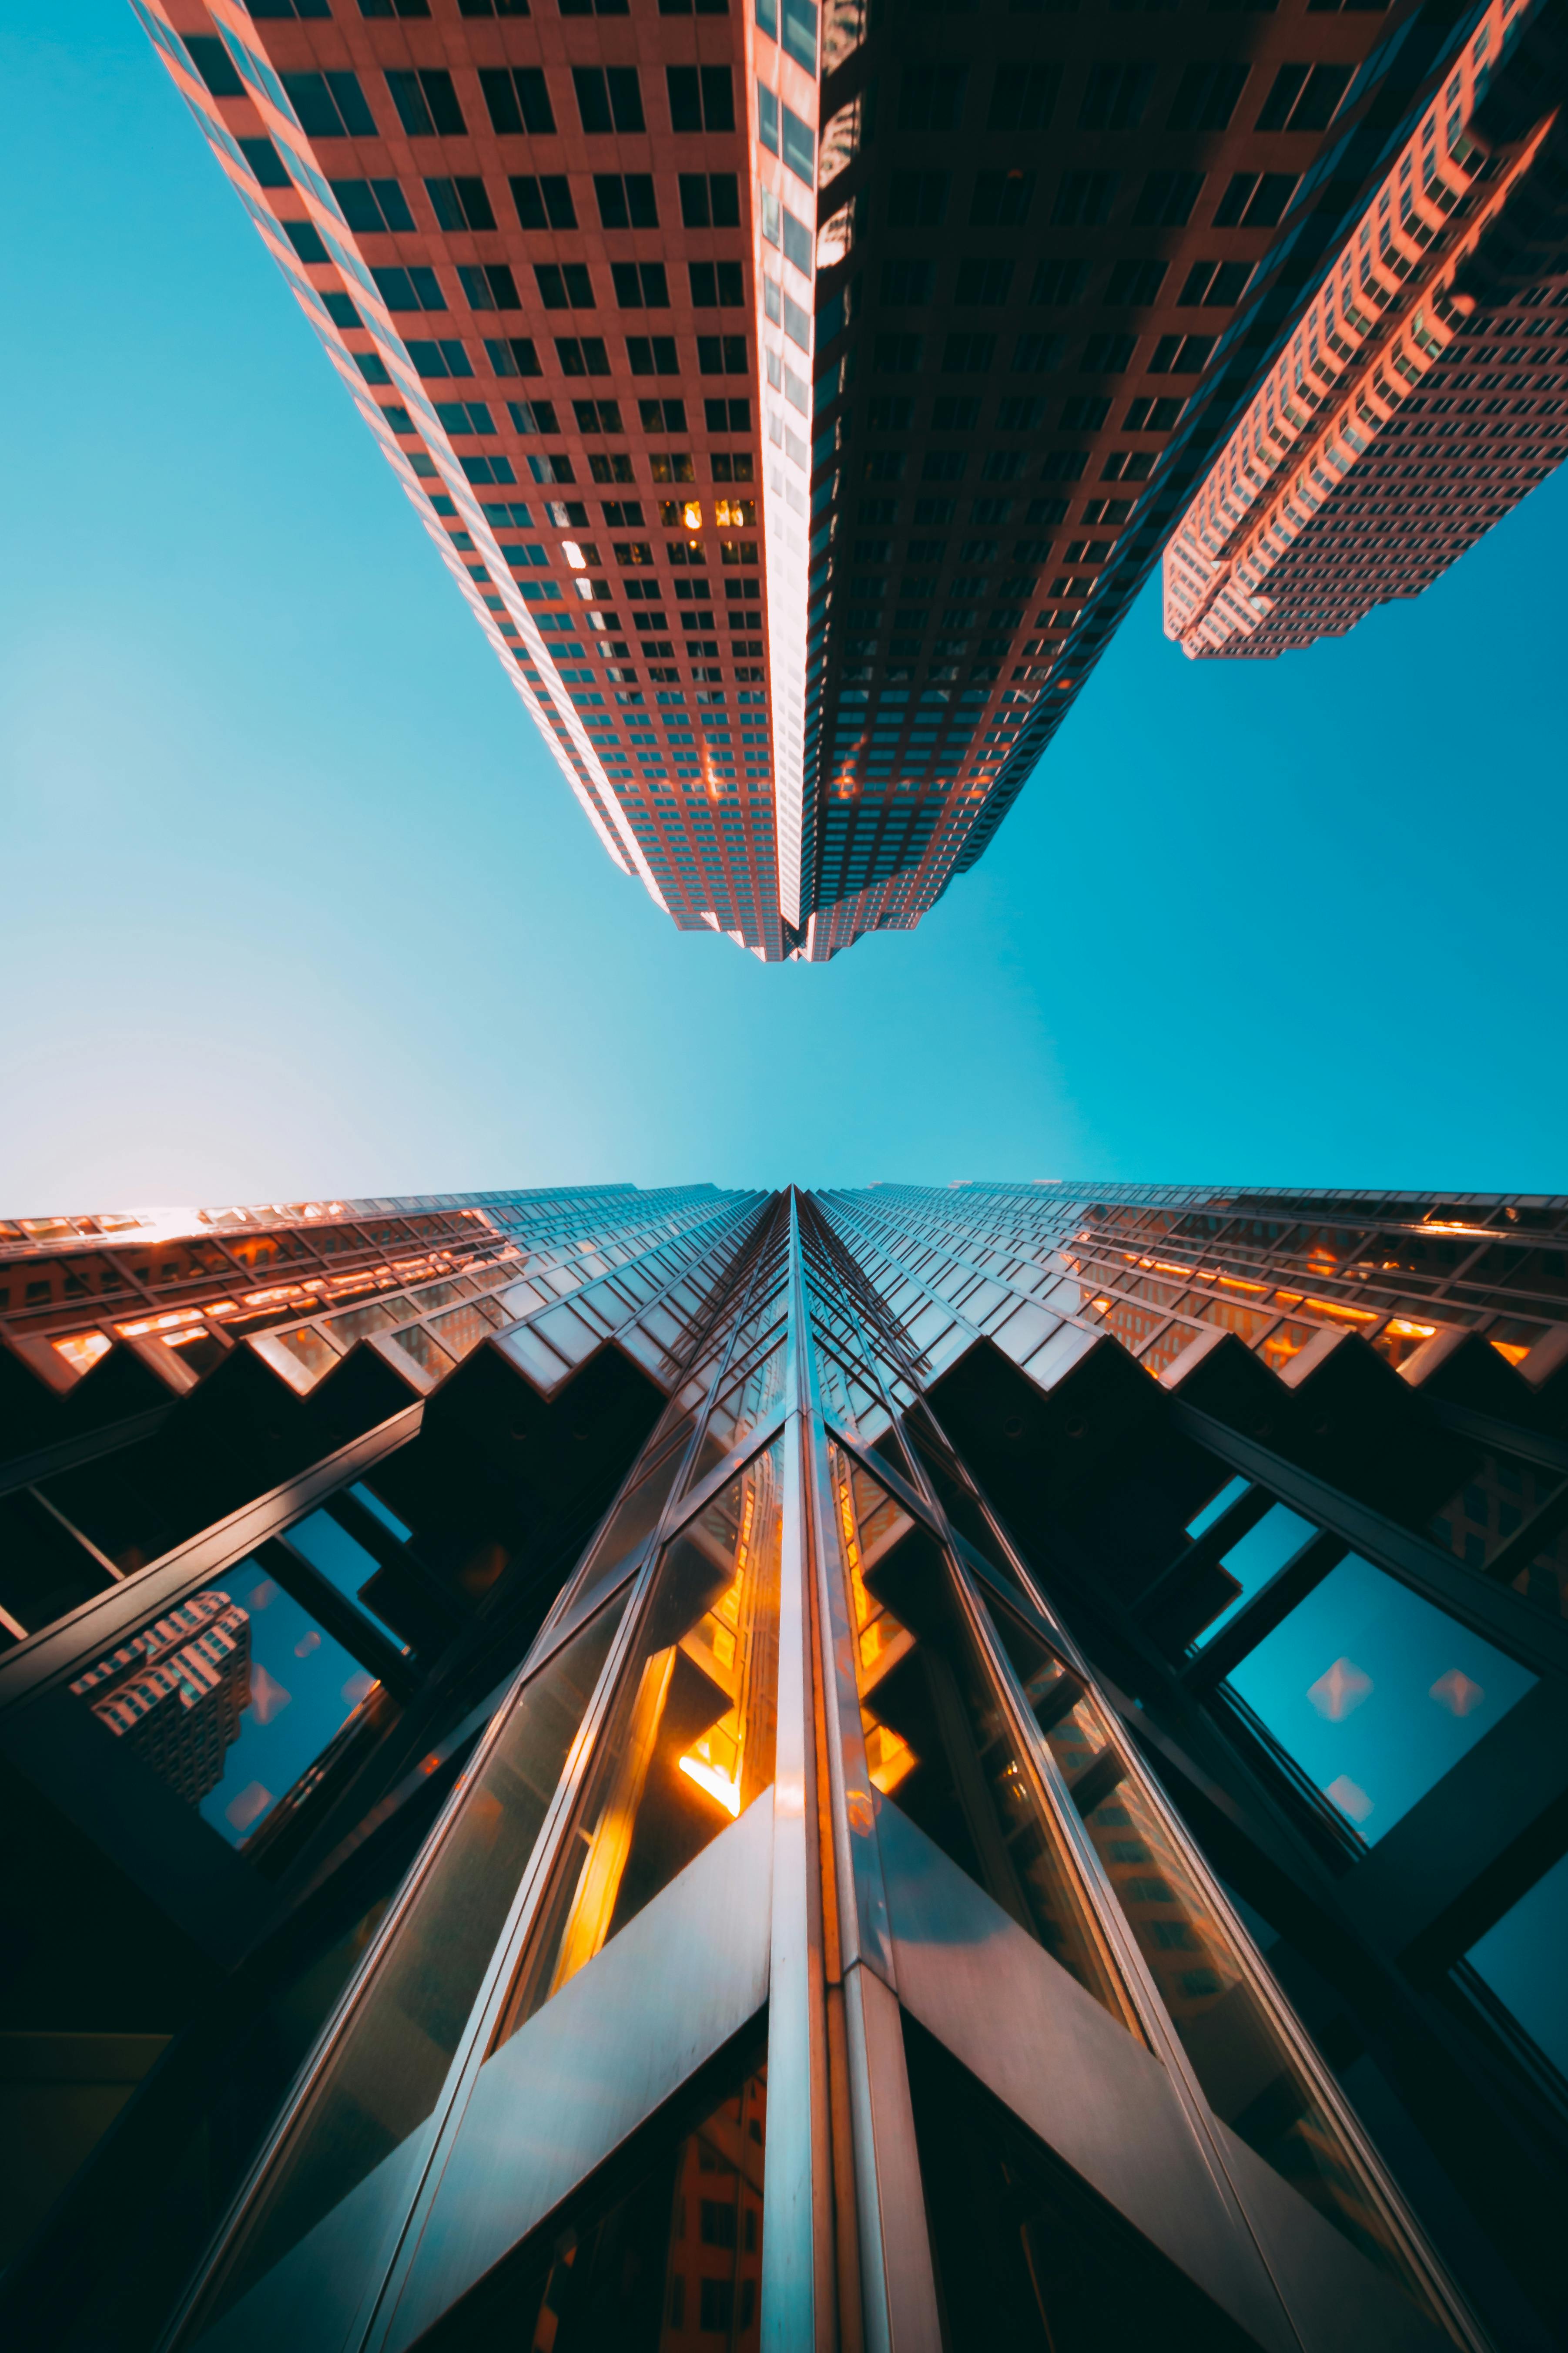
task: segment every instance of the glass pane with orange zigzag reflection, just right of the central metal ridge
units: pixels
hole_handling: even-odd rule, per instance
[[[1056,1817],[1020,1760],[936,1539],[830,1449],[872,1786],[1131,2024]]]

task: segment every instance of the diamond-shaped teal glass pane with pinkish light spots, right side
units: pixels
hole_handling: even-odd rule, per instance
[[[1368,1845],[1533,1682],[1528,1668],[1356,1553],[1229,1673],[1232,1689]]]

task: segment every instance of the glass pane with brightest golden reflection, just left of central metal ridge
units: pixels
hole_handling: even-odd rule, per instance
[[[665,1548],[501,2035],[771,1784],[778,1544],[780,1449],[769,1447]]]

